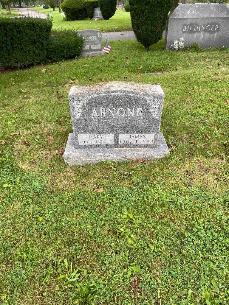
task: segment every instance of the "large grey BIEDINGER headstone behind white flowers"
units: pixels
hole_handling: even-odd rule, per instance
[[[184,45],[196,42],[203,48],[229,47],[229,7],[219,3],[180,4],[169,16],[165,48],[184,38]]]

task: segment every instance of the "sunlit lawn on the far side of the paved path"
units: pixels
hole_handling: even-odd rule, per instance
[[[42,9],[33,8],[38,12],[53,14],[53,29],[62,27],[64,28],[74,28],[76,30],[84,29],[98,29],[102,32],[116,32],[116,31],[132,31],[130,13],[126,12],[124,9],[117,9],[115,15],[109,20],[75,20],[75,21],[63,21],[63,16],[60,15],[58,8],[53,11],[53,9]]]

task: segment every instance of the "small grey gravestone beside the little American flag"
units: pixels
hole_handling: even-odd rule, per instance
[[[81,35],[84,40],[81,56],[89,57],[105,54],[102,50],[102,34],[100,30],[79,30],[77,34]]]

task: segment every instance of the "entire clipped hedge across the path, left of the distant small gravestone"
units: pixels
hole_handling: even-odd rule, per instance
[[[93,18],[95,7],[98,0],[65,0],[61,4],[67,21]]]

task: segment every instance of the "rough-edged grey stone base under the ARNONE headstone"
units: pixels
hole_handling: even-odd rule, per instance
[[[162,132],[159,133],[158,146],[156,148],[75,148],[74,136],[69,134],[64,152],[64,162],[68,165],[84,165],[105,160],[154,160],[169,154],[170,152]]]

